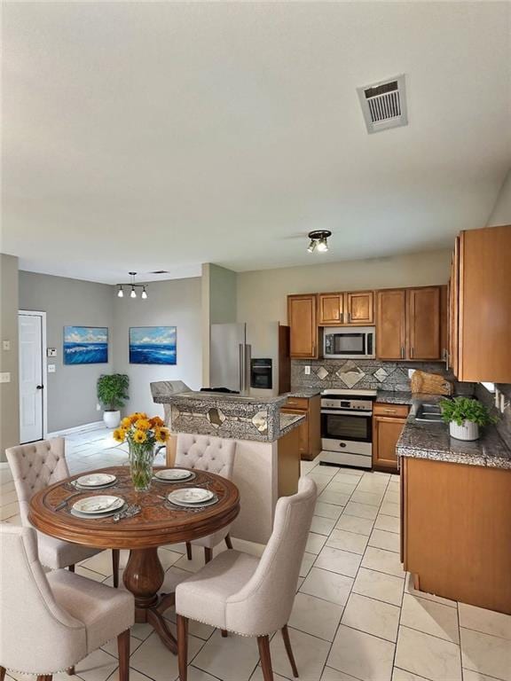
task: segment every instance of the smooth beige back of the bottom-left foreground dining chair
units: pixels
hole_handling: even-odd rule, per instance
[[[0,620],[5,669],[51,674],[87,654],[85,626],[54,599],[32,528],[0,524]]]

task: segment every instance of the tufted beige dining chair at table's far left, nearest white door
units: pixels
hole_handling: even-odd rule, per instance
[[[20,502],[21,522],[27,527],[30,499],[40,489],[64,480],[69,476],[65,442],[63,437],[41,440],[31,444],[20,444],[5,450],[11,467],[18,501]],[[95,556],[101,549],[92,549],[71,542],[64,542],[53,536],[37,532],[39,560],[46,568],[69,568],[75,572],[75,563]],[[114,586],[119,585],[119,551],[112,551]]]

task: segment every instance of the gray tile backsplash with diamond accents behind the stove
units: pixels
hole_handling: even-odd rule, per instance
[[[305,367],[311,373],[305,373]],[[459,383],[440,362],[381,362],[377,359],[294,359],[291,362],[293,387],[362,388],[410,390],[409,369],[436,373],[454,383],[458,395],[473,395],[473,383]]]

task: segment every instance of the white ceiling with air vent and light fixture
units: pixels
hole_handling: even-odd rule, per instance
[[[510,12],[4,4],[1,249],[112,283],[448,246],[511,165]],[[410,124],[368,135],[356,88],[400,73]]]

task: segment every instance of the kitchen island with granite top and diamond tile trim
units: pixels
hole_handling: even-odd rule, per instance
[[[231,534],[265,544],[273,526],[277,499],[294,494],[300,477],[298,427],[304,417],[281,413],[287,396],[259,397],[187,391],[158,395],[167,405],[172,434],[167,463],[174,465],[177,434],[235,440],[232,480],[240,489],[241,511]]]

